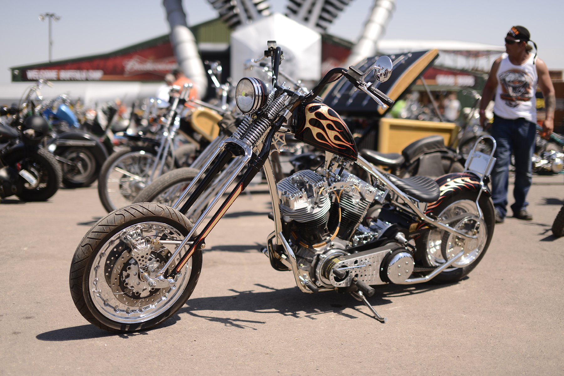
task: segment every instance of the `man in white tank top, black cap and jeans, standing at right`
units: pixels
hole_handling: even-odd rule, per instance
[[[511,205],[513,216],[532,220],[527,213],[527,193],[532,182],[531,157],[536,136],[536,87],[543,92],[547,117],[541,136],[548,138],[554,127],[554,87],[547,65],[536,58],[527,44],[531,34],[523,26],[513,26],[505,37],[505,54],[496,59],[482,92],[480,119],[486,124],[485,110],[491,100],[493,123],[491,135],[495,138],[497,161],[493,166],[492,201],[496,210],[496,223],[504,222],[507,214],[509,162],[515,156],[515,187]],[[532,41],[531,41],[532,42]],[[535,42],[532,42],[535,45]],[[536,52],[536,45],[535,45]],[[486,127],[484,127],[486,128]]]

